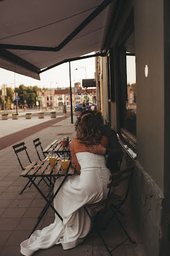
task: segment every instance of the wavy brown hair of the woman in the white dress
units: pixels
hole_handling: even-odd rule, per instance
[[[87,145],[100,144],[101,130],[99,118],[95,115],[86,115],[78,124],[77,140]]]

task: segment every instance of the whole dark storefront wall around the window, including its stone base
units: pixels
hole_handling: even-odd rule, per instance
[[[164,1],[124,1],[110,47],[118,40],[134,6],[137,76],[137,164],[133,180],[135,219],[147,255],[161,254],[164,194]],[[119,57],[119,56],[118,56]],[[116,64],[116,63],[114,63]],[[118,63],[117,63],[118,64]],[[148,77],[145,76],[148,65]],[[116,69],[119,67],[116,66]],[[120,76],[114,74],[115,101],[110,103],[111,125],[120,129]],[[117,76],[117,78],[116,78]],[[163,210],[162,210],[163,209]],[[167,230],[166,230],[167,231]],[[168,236],[168,235],[167,235]],[[164,243],[166,248],[167,243]],[[168,255],[168,254],[167,254]]]

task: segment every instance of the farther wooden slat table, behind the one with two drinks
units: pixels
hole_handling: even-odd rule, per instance
[[[63,153],[67,153],[70,156],[70,142],[69,145],[66,147],[63,147],[61,144],[61,140],[55,140],[51,142],[50,145],[48,145],[44,150],[43,153],[50,153],[51,151],[57,153],[58,156],[63,155]]]

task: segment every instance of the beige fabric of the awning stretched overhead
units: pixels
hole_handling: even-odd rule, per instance
[[[102,2],[103,0],[0,1],[0,44],[56,47]],[[59,52],[0,49],[0,67],[39,79],[38,71],[43,68],[65,58],[99,51],[107,9],[108,7],[102,10]],[[16,56],[20,58],[17,60]]]

